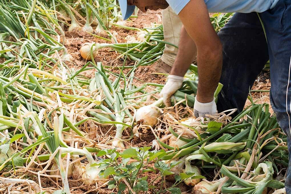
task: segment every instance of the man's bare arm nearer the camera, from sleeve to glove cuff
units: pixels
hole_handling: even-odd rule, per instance
[[[179,17],[197,47],[199,74],[197,100],[201,103],[211,102],[221,76],[221,42],[211,25],[204,0],[191,0],[179,13]],[[179,60],[183,60],[183,57]],[[186,63],[188,61],[184,64]]]

